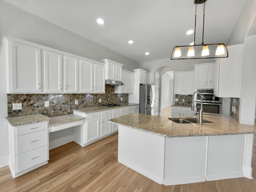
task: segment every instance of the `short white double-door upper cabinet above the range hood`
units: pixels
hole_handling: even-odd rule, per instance
[[[100,62],[106,65],[106,80],[116,80],[116,81],[122,80],[123,64],[120,64],[118,62],[115,62],[109,59],[100,60]]]

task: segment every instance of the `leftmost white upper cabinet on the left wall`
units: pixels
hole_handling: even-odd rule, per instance
[[[41,93],[41,50],[4,39],[8,93]]]

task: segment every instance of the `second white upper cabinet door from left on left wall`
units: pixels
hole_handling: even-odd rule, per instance
[[[44,50],[44,92],[62,93],[62,55]]]

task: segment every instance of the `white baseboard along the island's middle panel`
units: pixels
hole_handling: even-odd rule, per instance
[[[184,177],[184,178],[171,178],[171,179],[164,179],[164,185],[180,185],[180,184],[188,184],[188,183],[198,183],[204,182],[205,175],[202,176],[195,176],[195,177]]]

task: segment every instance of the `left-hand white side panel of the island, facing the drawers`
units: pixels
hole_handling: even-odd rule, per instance
[[[118,126],[118,161],[163,184],[165,137]]]

